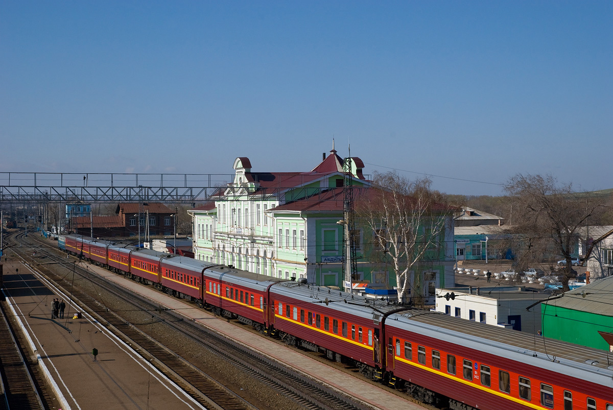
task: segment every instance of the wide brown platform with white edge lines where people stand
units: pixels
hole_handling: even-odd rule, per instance
[[[3,290],[61,392],[56,409],[202,409],[97,322],[72,319],[75,308],[51,319],[53,298],[68,298],[53,294],[25,265],[4,264]]]

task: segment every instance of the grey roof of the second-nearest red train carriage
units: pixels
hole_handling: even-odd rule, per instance
[[[382,300],[353,295],[327,286],[300,284],[294,281],[276,284],[270,289],[270,292],[307,303],[326,303],[327,299],[328,308],[376,322],[384,314],[403,308],[402,305],[388,305],[387,302]]]

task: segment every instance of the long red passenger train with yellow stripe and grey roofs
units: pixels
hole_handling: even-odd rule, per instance
[[[324,286],[67,235],[60,248],[454,410],[613,410],[613,357]]]

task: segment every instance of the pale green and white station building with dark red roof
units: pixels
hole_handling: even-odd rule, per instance
[[[345,185],[351,186],[354,196],[370,192],[361,159],[343,159],[332,146],[330,154],[324,153],[310,171],[254,172],[246,157],[236,158],[233,168],[232,182],[211,196],[210,202],[188,211],[196,259],[275,278],[353,286],[356,291],[357,287],[395,285],[395,275],[375,271],[363,257],[363,227],[351,232],[357,273],[351,283],[344,276]],[[444,279],[436,286],[441,283]]]

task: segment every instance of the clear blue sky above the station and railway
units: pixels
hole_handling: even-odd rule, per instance
[[[305,171],[333,138],[450,194],[613,188],[613,1],[0,0],[2,172]]]

